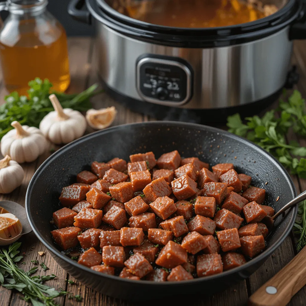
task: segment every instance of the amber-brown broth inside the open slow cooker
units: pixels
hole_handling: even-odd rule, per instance
[[[119,13],[150,24],[212,28],[269,16],[279,7],[257,0],[106,0]]]

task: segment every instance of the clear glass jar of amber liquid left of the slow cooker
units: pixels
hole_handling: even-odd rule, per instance
[[[0,62],[8,91],[26,95],[35,77],[49,79],[53,90],[70,84],[67,36],[62,25],[47,12],[47,0],[8,0],[9,11],[0,32]]]

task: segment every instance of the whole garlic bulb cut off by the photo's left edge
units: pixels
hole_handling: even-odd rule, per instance
[[[19,187],[24,178],[22,167],[9,155],[0,160],[0,193],[10,193]]]

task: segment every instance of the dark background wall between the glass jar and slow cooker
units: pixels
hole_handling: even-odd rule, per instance
[[[69,36],[93,35],[93,27],[72,19],[67,12],[70,0],[49,0],[48,11],[64,26]]]

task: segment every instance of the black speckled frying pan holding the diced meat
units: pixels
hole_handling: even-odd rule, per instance
[[[124,299],[151,299],[196,292],[211,294],[247,278],[279,247],[293,227],[297,207],[276,220],[267,237],[267,248],[259,256],[233,270],[191,281],[154,283],[122,279],[92,271],[61,253],[51,239],[50,220],[52,213],[61,208],[58,197],[62,187],[75,182],[78,172],[90,170],[94,160],[106,162],[117,156],[129,160],[130,154],[147,151],[153,151],[158,158],[162,153],[175,149],[183,157],[197,156],[210,165],[232,162],[238,173],[252,176],[252,185],[266,189],[265,204],[271,205],[275,211],[296,196],[293,182],[279,162],[258,146],[220,129],[156,121],[98,131],[50,156],[34,174],[26,195],[26,211],[34,233],[65,271],[86,286]]]

